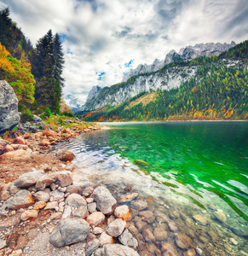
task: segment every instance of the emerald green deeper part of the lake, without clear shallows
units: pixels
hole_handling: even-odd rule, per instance
[[[201,197],[206,189],[248,221],[248,122],[112,125],[114,154],[147,162],[141,170],[172,190],[184,185]]]

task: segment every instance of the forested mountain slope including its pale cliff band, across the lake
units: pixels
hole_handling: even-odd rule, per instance
[[[171,62],[158,72],[103,88],[94,102],[100,108],[85,119],[247,119],[247,52],[245,41],[219,57]],[[130,105],[150,89],[156,91],[155,100]],[[133,93],[132,98],[127,99],[126,92]]]

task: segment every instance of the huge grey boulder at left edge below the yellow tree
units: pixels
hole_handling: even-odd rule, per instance
[[[0,134],[20,122],[18,100],[13,88],[4,80],[0,81]]]

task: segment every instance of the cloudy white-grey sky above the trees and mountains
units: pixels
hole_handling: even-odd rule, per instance
[[[82,100],[170,49],[248,39],[247,0],[0,0],[7,6],[33,45],[49,29],[61,35],[64,92]]]

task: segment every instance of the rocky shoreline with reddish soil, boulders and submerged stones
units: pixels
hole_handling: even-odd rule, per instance
[[[214,205],[188,215],[129,184],[114,197],[77,172],[72,152],[50,152],[101,129],[47,129],[0,141],[0,255],[248,255],[248,233],[230,231]]]

